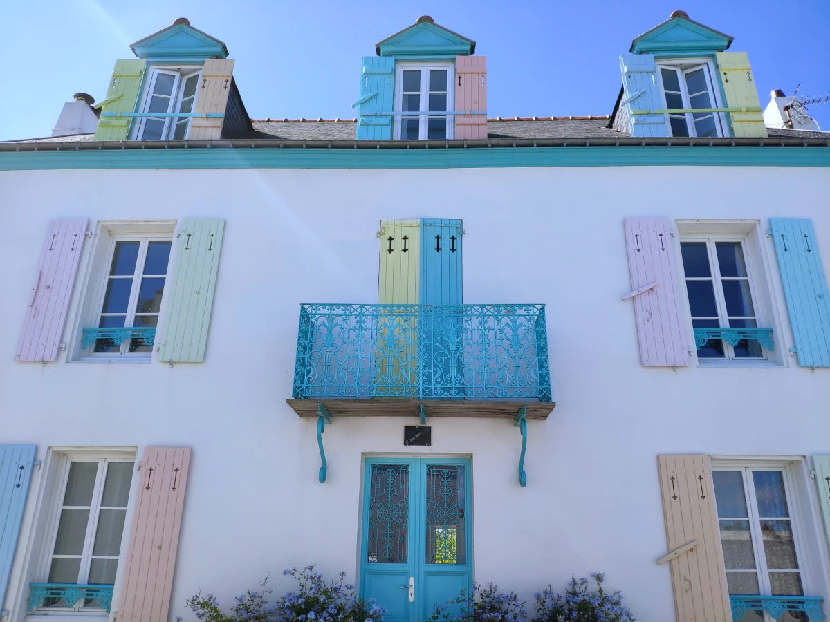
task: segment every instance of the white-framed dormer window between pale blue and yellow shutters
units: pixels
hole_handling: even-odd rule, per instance
[[[708,63],[659,66],[666,109],[717,108],[711,67]],[[706,112],[666,114],[670,136],[724,136],[720,114]]]

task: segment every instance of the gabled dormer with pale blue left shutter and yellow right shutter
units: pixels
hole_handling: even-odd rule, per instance
[[[620,56],[623,93],[615,127],[632,136],[767,135],[746,52],[686,12],[637,36]]]

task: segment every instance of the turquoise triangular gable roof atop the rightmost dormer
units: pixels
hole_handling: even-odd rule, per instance
[[[686,12],[671,13],[666,22],[643,32],[631,43],[635,54],[688,56],[726,50],[734,37],[689,19]]]

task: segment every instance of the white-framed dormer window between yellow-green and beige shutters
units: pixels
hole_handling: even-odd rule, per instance
[[[155,69],[149,79],[149,87],[144,95],[141,112],[157,114],[186,114],[193,112],[196,90],[199,83],[199,71],[190,72],[193,67],[184,70]],[[187,71],[188,73],[184,73]],[[183,140],[188,138],[190,119],[161,117],[140,117],[139,140]]]

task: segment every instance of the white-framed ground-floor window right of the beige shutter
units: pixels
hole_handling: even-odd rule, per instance
[[[716,469],[712,478],[730,595],[803,596],[802,559],[786,471]],[[797,611],[788,611],[778,620],[808,622]],[[773,619],[764,611],[750,610],[735,622]]]

